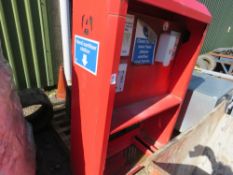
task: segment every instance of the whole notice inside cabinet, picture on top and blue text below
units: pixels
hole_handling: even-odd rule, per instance
[[[139,19],[136,27],[132,62],[135,64],[153,64],[157,38],[153,29]]]

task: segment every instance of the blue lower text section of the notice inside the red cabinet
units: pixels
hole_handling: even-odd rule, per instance
[[[151,43],[146,38],[136,38],[132,62],[135,64],[154,63],[155,43]]]

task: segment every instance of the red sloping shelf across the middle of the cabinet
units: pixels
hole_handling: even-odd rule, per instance
[[[148,98],[140,102],[116,108],[113,111],[110,134],[117,133],[125,128],[153,117],[156,114],[178,106],[181,102],[181,98],[168,94]]]

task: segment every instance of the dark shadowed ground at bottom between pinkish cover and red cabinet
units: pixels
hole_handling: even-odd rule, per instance
[[[69,152],[51,128],[35,134],[37,175],[71,175]]]

